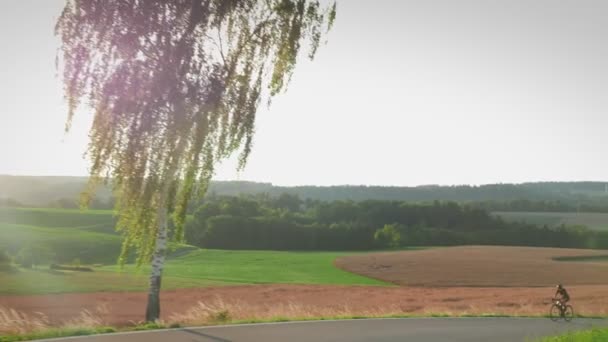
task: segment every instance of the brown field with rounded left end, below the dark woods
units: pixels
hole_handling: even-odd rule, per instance
[[[402,286],[535,287],[608,285],[608,263],[554,257],[608,255],[608,251],[466,246],[383,252],[338,258],[336,266]]]

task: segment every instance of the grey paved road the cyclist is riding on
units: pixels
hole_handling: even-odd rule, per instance
[[[64,342],[512,342],[608,326],[608,320],[554,323],[541,318],[405,318],[251,324],[55,339]],[[51,341],[51,340],[48,340]]]

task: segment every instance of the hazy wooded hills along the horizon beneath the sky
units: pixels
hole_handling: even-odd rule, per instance
[[[23,206],[73,207],[85,188],[85,177],[27,177],[0,175],[0,200]],[[270,183],[215,181],[209,195],[238,196],[283,193],[320,201],[407,201],[433,200],[482,203],[496,211],[591,211],[608,212],[608,182],[540,182],[488,184],[480,186],[275,186]],[[94,209],[110,209],[113,201],[108,186],[102,186]],[[529,201],[529,203],[525,203]],[[194,207],[193,207],[194,208]],[[540,208],[540,209],[539,209]]]

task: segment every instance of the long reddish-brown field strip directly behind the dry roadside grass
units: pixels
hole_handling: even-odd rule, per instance
[[[575,286],[569,291],[577,313],[608,314],[608,286]],[[217,310],[227,309],[235,319],[346,313],[539,315],[547,312],[552,295],[553,288],[255,285],[165,291],[161,301],[165,320],[185,313],[199,301]],[[130,325],[143,318],[145,302],[144,293],[0,297],[0,306],[43,313],[52,324],[64,323],[86,309],[105,324]],[[96,312],[100,306],[105,310]]]

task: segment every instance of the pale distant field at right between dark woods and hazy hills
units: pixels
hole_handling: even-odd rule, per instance
[[[556,227],[586,226],[593,230],[608,230],[608,213],[571,213],[571,212],[494,212],[494,215],[511,222]]]

